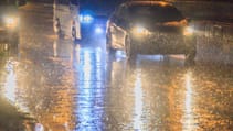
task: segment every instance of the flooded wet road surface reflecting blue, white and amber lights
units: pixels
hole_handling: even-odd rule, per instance
[[[1,96],[34,118],[33,128],[17,125],[29,131],[233,130],[232,65],[198,61],[186,67],[182,56],[159,55],[139,55],[129,64],[121,52],[106,54],[104,36],[76,44],[56,39],[52,6],[28,4],[21,17],[18,53],[2,56],[0,64]],[[1,116],[8,114],[4,107]],[[12,125],[17,119],[0,120],[0,131],[20,129]]]

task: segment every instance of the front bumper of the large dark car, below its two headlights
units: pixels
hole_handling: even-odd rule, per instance
[[[135,51],[142,54],[186,54],[195,50],[195,35],[184,36],[172,33],[153,33],[135,36],[131,34]]]

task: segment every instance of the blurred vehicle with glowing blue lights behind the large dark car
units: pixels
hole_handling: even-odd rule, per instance
[[[126,0],[78,0],[81,39],[104,34],[107,19],[124,1]]]

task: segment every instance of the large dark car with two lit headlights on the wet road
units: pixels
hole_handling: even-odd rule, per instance
[[[194,63],[197,35],[190,23],[169,2],[124,2],[108,19],[106,51],[123,50],[128,59],[137,54],[184,54],[186,62]]]

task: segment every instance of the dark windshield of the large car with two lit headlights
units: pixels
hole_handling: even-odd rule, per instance
[[[152,20],[153,22],[180,21],[182,14],[171,6],[133,6],[129,8],[129,15],[133,20]]]

